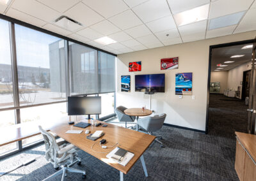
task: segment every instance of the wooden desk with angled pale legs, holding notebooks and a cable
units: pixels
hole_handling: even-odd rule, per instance
[[[90,121],[89,121],[90,122]],[[101,121],[97,121],[101,122]],[[106,122],[102,122],[104,124],[108,124]],[[66,134],[67,130],[83,130],[83,133],[81,134]],[[97,130],[102,130],[105,135],[102,136],[99,140],[92,141],[88,140],[86,136],[88,134],[84,133],[84,130],[90,129],[91,133],[94,133]],[[138,131],[133,131],[131,129],[125,129],[124,127],[115,126],[113,124],[108,124],[108,127],[95,127],[95,126],[89,126],[86,128],[80,128],[75,126],[69,126],[67,124],[63,126],[55,127],[54,129],[51,129],[52,133],[57,134],[64,140],[67,140],[69,143],[72,143],[76,147],[80,148],[81,150],[84,150],[84,152],[87,152],[88,154],[91,154],[92,156],[96,157],[97,159],[100,159],[106,164],[109,164],[116,170],[120,171],[120,180],[124,179],[123,173],[127,174],[128,171],[132,168],[134,163],[140,158],[141,163],[143,165],[143,170],[145,171],[145,175],[147,177],[147,168],[145,166],[145,162],[143,159],[143,152],[149,147],[149,145],[154,141],[156,136],[152,136],[145,133],[140,133]],[[99,141],[101,139],[106,139],[107,143],[106,145],[112,146],[118,143],[117,147],[124,148],[125,150],[128,150],[129,152],[134,153],[134,157],[129,161],[129,163],[126,166],[122,166],[118,163],[115,163],[111,159],[108,159],[106,156],[108,153],[100,153],[100,152],[110,152],[113,150],[113,148],[101,148],[99,146]],[[93,147],[93,149],[92,149]],[[97,152],[98,151],[98,152]]]

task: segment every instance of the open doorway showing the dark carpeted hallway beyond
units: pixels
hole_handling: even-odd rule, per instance
[[[228,138],[235,138],[235,131],[248,133],[244,100],[252,85],[252,47],[253,40],[210,47],[206,133]]]

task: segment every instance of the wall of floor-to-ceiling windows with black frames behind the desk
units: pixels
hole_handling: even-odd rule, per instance
[[[91,117],[114,115],[115,56],[9,20],[0,19],[0,131],[20,134],[17,128],[25,127],[31,132],[26,139],[4,143],[0,158],[40,143],[38,125],[84,119],[68,117],[68,96],[101,96],[102,113]]]

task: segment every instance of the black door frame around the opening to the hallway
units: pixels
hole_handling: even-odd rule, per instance
[[[212,62],[212,49],[230,47],[234,45],[243,45],[247,43],[253,43],[254,40],[235,41],[230,43],[222,43],[218,45],[211,45],[209,47],[209,67],[208,67],[208,83],[207,83],[207,107],[206,107],[206,119],[205,119],[205,134],[208,133],[208,122],[209,122],[209,98],[210,98],[210,83],[211,83],[211,62]]]

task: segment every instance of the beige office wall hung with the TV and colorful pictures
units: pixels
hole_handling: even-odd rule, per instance
[[[158,113],[166,113],[165,122],[168,124],[205,131],[209,46],[250,40],[255,37],[255,34],[256,31],[251,31],[118,55],[116,62],[116,105],[124,105],[129,108],[143,105],[148,107],[149,96],[143,92],[134,92],[134,75],[165,73],[165,93],[157,93],[152,96],[152,108]],[[160,59],[166,57],[179,57],[179,69],[161,71]],[[128,64],[133,61],[142,61],[140,72],[129,73]],[[193,73],[195,99],[191,99],[191,96],[183,96],[182,99],[179,99],[179,96],[175,95],[175,73],[182,72]],[[121,75],[131,75],[131,92],[120,92]]]

